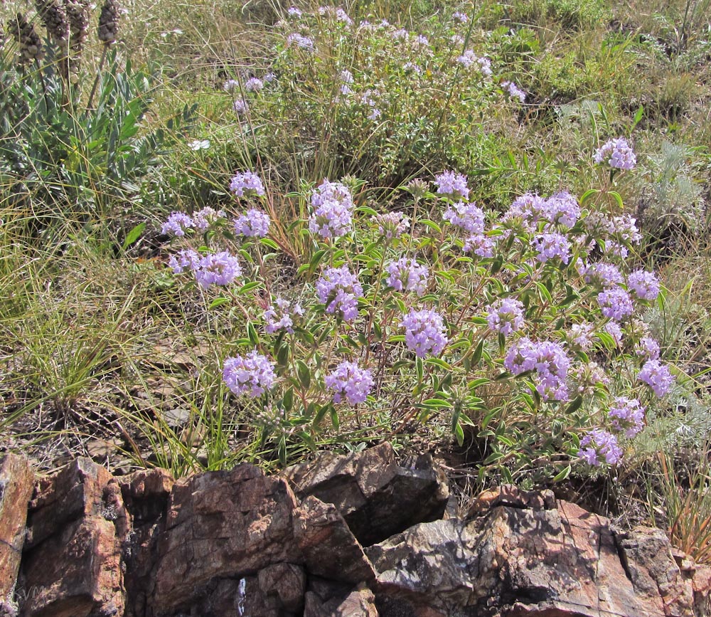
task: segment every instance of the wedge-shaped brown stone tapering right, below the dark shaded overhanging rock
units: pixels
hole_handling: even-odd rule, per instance
[[[333,504],[306,497],[294,511],[294,539],[309,573],[353,584],[375,580],[373,566]]]

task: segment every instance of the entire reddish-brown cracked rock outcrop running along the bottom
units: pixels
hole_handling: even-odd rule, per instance
[[[658,529],[617,532],[550,491],[514,487],[447,517],[432,459],[398,463],[389,445],[272,477],[238,465],[112,478],[79,459],[29,500],[32,485],[21,458],[0,463],[0,615],[710,614],[711,569]]]

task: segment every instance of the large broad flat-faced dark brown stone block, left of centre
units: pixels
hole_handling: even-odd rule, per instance
[[[152,611],[167,615],[189,606],[213,579],[239,580],[272,564],[298,564],[295,508],[287,482],[266,478],[252,465],[176,482],[156,546]]]

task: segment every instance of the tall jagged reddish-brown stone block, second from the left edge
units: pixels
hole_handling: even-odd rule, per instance
[[[23,555],[26,617],[122,616],[121,543],[128,529],[112,476],[78,459],[43,482]]]

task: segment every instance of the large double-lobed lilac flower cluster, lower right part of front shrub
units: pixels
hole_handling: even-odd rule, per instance
[[[560,344],[533,342],[523,337],[509,349],[503,365],[514,375],[535,370],[535,389],[544,401],[567,400],[565,379],[570,368],[570,358]]]

